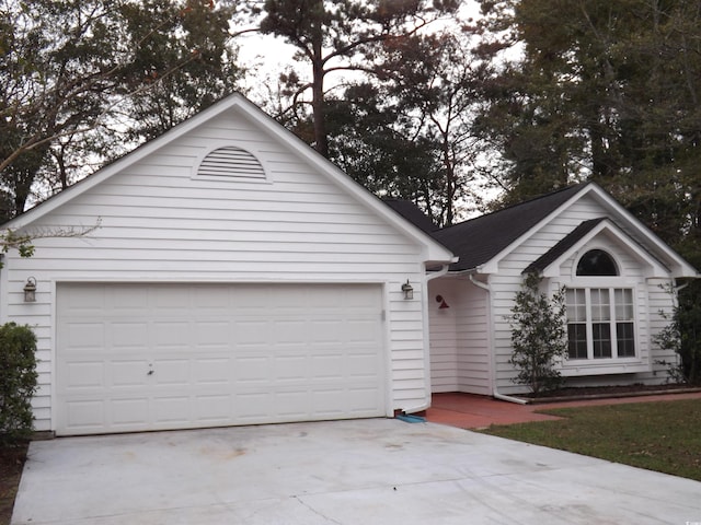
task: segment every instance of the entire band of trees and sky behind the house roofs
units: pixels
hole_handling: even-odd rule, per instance
[[[255,102],[371,191],[451,224],[591,179],[700,265],[698,2],[464,3],[0,0],[4,215],[234,91],[250,30],[296,51]]]

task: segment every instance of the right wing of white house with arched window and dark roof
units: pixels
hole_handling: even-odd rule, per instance
[[[433,392],[524,392],[508,363],[524,273],[566,287],[571,386],[656,384],[676,362],[654,345],[679,278],[696,269],[593,183],[463,222],[433,236],[459,256],[428,285]],[[443,308],[440,306],[444,306]],[[445,307],[449,306],[449,307]]]

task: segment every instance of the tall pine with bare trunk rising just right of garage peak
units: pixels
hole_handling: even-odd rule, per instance
[[[324,81],[330,73],[359,71],[381,74],[377,55],[382,45],[416,34],[443,14],[457,10],[459,1],[433,2],[375,0],[265,0],[260,30],[295,46],[296,60],[311,66],[309,80],[297,72],[286,75],[294,91],[294,106],[311,91],[313,145],[329,156]]]

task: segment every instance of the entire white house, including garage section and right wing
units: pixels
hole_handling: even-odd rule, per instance
[[[662,287],[697,272],[598,186],[441,231],[389,205],[233,95],[10,221],[39,234],[0,270],[0,322],[38,338],[36,430],[391,417],[432,392],[513,394],[506,317],[531,268],[571,291],[564,375],[664,381]]]

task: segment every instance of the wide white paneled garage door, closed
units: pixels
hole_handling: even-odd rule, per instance
[[[365,284],[58,285],[57,433],[384,416]]]

